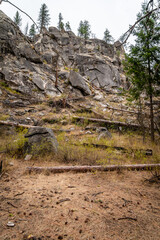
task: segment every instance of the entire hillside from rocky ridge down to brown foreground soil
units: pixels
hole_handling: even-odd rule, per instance
[[[0,11],[0,239],[159,239],[160,99],[153,143],[149,102],[123,95],[124,55],[55,27],[30,39]]]

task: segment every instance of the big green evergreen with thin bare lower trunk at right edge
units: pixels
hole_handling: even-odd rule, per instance
[[[138,19],[146,12],[146,3],[142,4],[142,11]],[[156,95],[156,85],[160,84],[160,21],[154,12],[140,21],[134,28],[135,45],[131,45],[126,56],[125,70],[131,82],[129,91],[134,100],[139,100],[142,94],[150,102],[150,131],[154,141],[154,112],[153,97]]]

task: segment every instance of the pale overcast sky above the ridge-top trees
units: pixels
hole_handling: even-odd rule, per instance
[[[61,12],[64,22],[69,21],[72,31],[77,34],[81,20],[88,20],[91,31],[97,38],[103,39],[106,28],[117,40],[124,33],[129,24],[136,20],[141,10],[143,0],[10,0],[16,6],[27,12],[36,22],[40,7],[43,3],[49,8],[50,26],[57,27],[58,15]],[[7,2],[2,2],[0,9],[13,19],[16,9]],[[24,30],[27,22],[31,21],[20,13]]]

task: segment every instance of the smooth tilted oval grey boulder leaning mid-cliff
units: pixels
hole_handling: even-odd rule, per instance
[[[77,72],[71,71],[69,81],[72,87],[79,89],[84,95],[91,95],[89,86],[85,79]]]

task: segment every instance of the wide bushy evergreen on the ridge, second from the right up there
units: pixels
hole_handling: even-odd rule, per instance
[[[89,39],[91,34],[90,25],[88,21],[80,21],[78,28],[78,36],[84,39]]]

